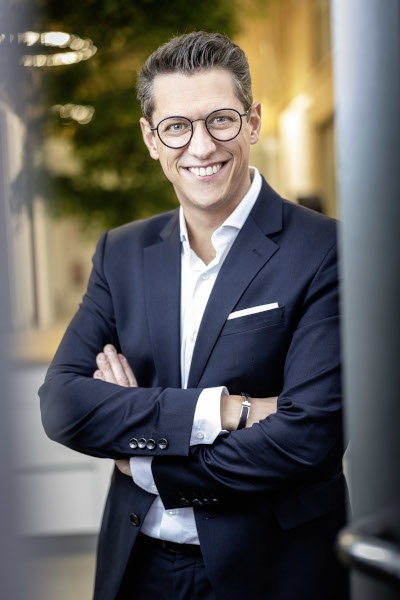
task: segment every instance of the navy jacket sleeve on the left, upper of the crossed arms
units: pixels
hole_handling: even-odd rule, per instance
[[[107,235],[99,240],[87,293],[39,390],[44,429],[51,439],[98,457],[131,456],[131,440],[142,439],[143,432],[155,442],[148,454],[187,455],[201,389],[123,388],[93,379],[104,345],[119,347],[103,268]]]

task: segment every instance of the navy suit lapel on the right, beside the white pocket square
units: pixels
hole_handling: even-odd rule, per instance
[[[263,182],[260,196],[219,272],[204,311],[188,387],[197,387],[221,330],[243,292],[278,250],[267,237],[282,228],[282,200]]]

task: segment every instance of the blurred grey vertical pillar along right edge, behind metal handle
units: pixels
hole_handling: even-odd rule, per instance
[[[400,2],[332,0],[351,524],[400,507]],[[400,552],[400,518],[392,523]],[[400,585],[400,579],[399,579]],[[400,588],[356,572],[353,600]]]

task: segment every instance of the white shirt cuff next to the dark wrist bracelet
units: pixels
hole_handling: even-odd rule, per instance
[[[197,400],[190,445],[212,444],[221,433],[221,396],[228,395],[226,387],[206,388]]]

